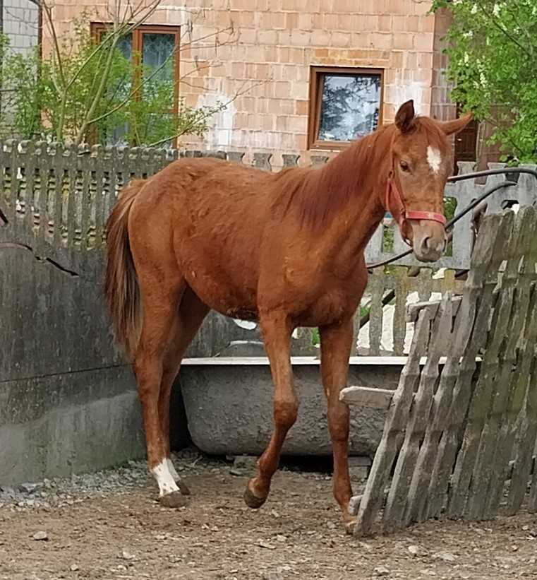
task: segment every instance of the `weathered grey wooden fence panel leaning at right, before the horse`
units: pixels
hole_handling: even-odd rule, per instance
[[[537,211],[525,206],[485,218],[461,296],[411,307],[416,332],[399,386],[375,398],[391,402],[354,500],[357,533],[490,519],[524,499],[537,511],[536,282]],[[342,398],[372,404],[359,387]]]

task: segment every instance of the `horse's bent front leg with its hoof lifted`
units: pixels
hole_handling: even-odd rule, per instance
[[[267,499],[286,434],[298,413],[291,368],[292,328],[289,317],[283,312],[273,312],[261,317],[260,326],[274,383],[274,430],[267,449],[259,458],[258,473],[248,482],[244,493],[246,505],[253,509],[261,507]]]

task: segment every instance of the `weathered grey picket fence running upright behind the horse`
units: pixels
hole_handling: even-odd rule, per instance
[[[144,148],[115,148],[95,146],[66,147],[44,142],[7,141],[0,144],[0,220],[1,242],[26,247],[37,259],[48,261],[73,276],[97,282],[102,278],[102,260],[94,256],[104,243],[104,224],[119,189],[132,177],[147,177],[181,156],[212,155],[234,162],[244,162],[243,153],[223,151],[177,151]],[[323,155],[310,155],[306,162],[322,166],[327,161]],[[248,155],[251,165],[271,170],[271,155]],[[298,155],[282,155],[284,167],[298,165]],[[495,164],[496,166],[498,164]],[[459,164],[459,172],[473,169],[471,163]],[[485,184],[473,181],[448,184],[446,196],[457,200],[461,208],[480,195],[484,188],[501,181],[502,176],[491,176]],[[516,187],[502,188],[488,200],[488,211],[497,211],[506,201],[518,200],[532,204],[537,199],[533,177],[521,175]],[[454,229],[452,255],[445,256],[435,268],[448,268],[443,278],[433,276],[433,271],[423,268],[417,278],[407,276],[406,268],[391,268],[390,272],[377,271],[371,276],[364,302],[370,308],[370,322],[362,331],[367,338],[366,352],[376,354],[404,353],[412,323],[405,321],[409,300],[428,300],[433,292],[451,290],[458,292],[461,284],[452,270],[467,268],[472,247],[470,215],[457,223]],[[399,233],[394,230],[390,238],[393,247],[386,249],[387,225],[375,232],[366,250],[367,261],[375,262],[397,253],[404,247]],[[398,264],[416,264],[408,257]],[[394,300],[382,308],[382,294],[394,290]],[[392,319],[387,319],[387,314]],[[384,320],[383,320],[384,319]],[[388,328],[387,328],[388,326]],[[227,328],[231,328],[227,326]],[[382,336],[390,335],[390,345],[382,345]],[[356,321],[358,336],[358,320]],[[231,341],[259,341],[258,329],[237,329]],[[294,341],[295,352],[307,355],[318,351],[313,343],[312,331],[301,329]],[[221,341],[219,348],[222,347]],[[199,349],[196,351],[198,352]],[[215,354],[215,348],[210,349]],[[363,352],[363,351],[362,351]]]

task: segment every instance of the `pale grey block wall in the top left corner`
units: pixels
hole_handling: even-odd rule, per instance
[[[4,0],[4,34],[16,52],[26,52],[39,42],[39,10],[30,0]]]

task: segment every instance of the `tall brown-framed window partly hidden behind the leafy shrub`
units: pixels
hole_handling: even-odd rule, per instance
[[[97,42],[107,34],[104,23],[92,23],[91,31]],[[134,77],[126,81],[123,93],[133,94],[133,100],[143,100],[148,90],[155,90],[159,84],[173,85],[173,100],[169,109],[155,114],[177,115],[179,113],[179,47],[180,27],[168,25],[140,25],[123,36],[117,45],[119,52],[133,63]],[[143,77],[142,77],[143,76]],[[135,90],[140,87],[140,90]],[[118,127],[110,141],[119,142],[128,134],[128,127]]]

